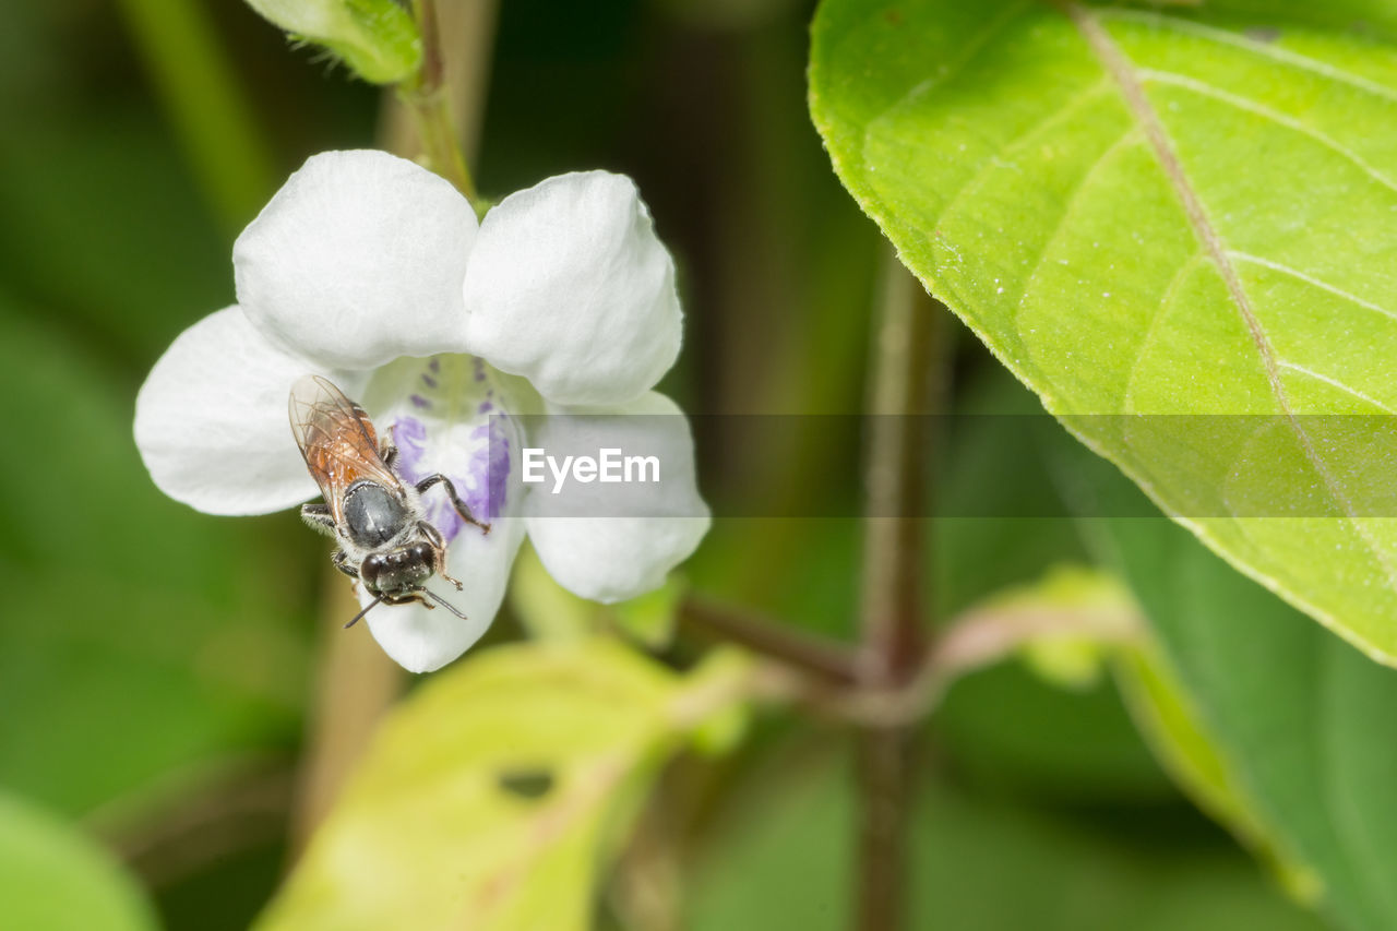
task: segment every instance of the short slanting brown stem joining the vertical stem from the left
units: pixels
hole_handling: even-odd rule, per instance
[[[745,608],[689,597],[680,605],[679,621],[700,633],[736,643],[824,682],[854,685],[858,681],[856,657],[842,643],[805,633]]]

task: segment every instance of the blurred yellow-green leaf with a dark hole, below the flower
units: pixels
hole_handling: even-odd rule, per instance
[[[728,657],[685,679],[608,640],[472,654],[393,713],[258,927],[590,927],[657,766],[747,675]]]

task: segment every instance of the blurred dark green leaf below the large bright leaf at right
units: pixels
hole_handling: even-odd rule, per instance
[[[1098,503],[1139,495],[1099,460],[1077,459]],[[1217,753],[1211,766],[1245,800],[1264,847],[1313,871],[1323,907],[1344,925],[1397,927],[1397,744],[1387,713],[1397,709],[1397,671],[1329,636],[1166,520],[1087,527],[1140,600]]]

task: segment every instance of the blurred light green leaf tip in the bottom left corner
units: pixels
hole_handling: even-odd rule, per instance
[[[158,923],[110,854],[53,815],[0,794],[0,927],[147,931]]]

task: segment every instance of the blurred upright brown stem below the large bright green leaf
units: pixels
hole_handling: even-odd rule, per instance
[[[922,630],[925,568],[923,500],[930,447],[932,375],[942,309],[890,254],[883,275],[872,345],[866,464],[868,517],[863,542],[863,598],[859,685],[895,689],[909,681],[926,654]],[[911,780],[909,730],[862,728],[858,777],[858,928],[891,931],[902,924],[905,832]]]

